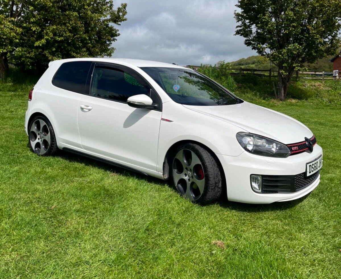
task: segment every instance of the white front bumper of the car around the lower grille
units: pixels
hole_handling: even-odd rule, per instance
[[[306,163],[322,155],[321,146],[315,145],[312,153],[303,152],[287,158],[271,158],[243,152],[239,156],[216,154],[220,160],[227,188],[229,201],[268,204],[273,202],[291,201],[299,199],[314,190],[320,183],[320,175],[309,186],[294,193],[256,193],[251,189],[250,175],[286,176],[298,175],[306,171]]]

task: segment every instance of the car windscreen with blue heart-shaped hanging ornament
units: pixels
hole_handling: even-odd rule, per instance
[[[194,106],[234,105],[240,100],[205,76],[180,68],[144,67],[174,102]]]

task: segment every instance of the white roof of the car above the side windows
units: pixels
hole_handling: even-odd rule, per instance
[[[72,61],[99,61],[99,62],[108,62],[108,63],[117,63],[117,64],[123,64],[123,65],[130,65],[130,66],[135,66],[135,67],[160,67],[160,68],[183,68],[186,69],[185,67],[175,65],[175,64],[170,64],[170,63],[164,63],[164,62],[157,62],[157,61],[150,61],[150,60],[140,60],[140,59],[127,59],[127,58],[98,58],[98,57],[93,57],[93,58],[71,58],[71,59],[61,59],[61,60],[56,60],[60,61],[62,63],[64,62],[72,62]],[[54,61],[51,61],[53,63]]]

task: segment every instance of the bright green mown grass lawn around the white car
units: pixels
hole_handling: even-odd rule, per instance
[[[305,123],[323,147],[306,199],[203,207],[161,180],[36,156],[29,87],[0,86],[0,278],[341,277],[340,104],[256,101]]]

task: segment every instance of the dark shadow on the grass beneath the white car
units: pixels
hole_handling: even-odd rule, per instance
[[[58,150],[56,156],[64,160],[70,161],[70,162],[77,162],[77,163],[81,163],[87,166],[97,167],[97,168],[100,168],[101,170],[104,170],[113,174],[119,174],[123,176],[142,179],[144,181],[151,182],[159,186],[168,186],[170,189],[176,192],[175,188],[167,181],[164,181],[164,180],[152,177],[152,176],[144,175],[142,173],[138,173],[132,170],[127,170],[124,167],[110,164],[108,162],[98,161],[94,158],[88,158],[82,155],[78,155],[78,154],[74,154],[74,153],[66,152],[62,150]],[[222,192],[221,198],[216,204],[218,204],[219,206],[223,208],[227,208],[227,209],[235,210],[235,211],[242,211],[242,212],[282,211],[282,210],[287,210],[287,209],[295,207],[296,205],[304,201],[309,196],[309,194],[307,194],[304,197],[301,197],[300,199],[297,199],[294,201],[288,201],[288,202],[276,202],[272,204],[245,204],[245,203],[237,203],[237,202],[228,201],[226,198],[226,190],[225,190]]]

